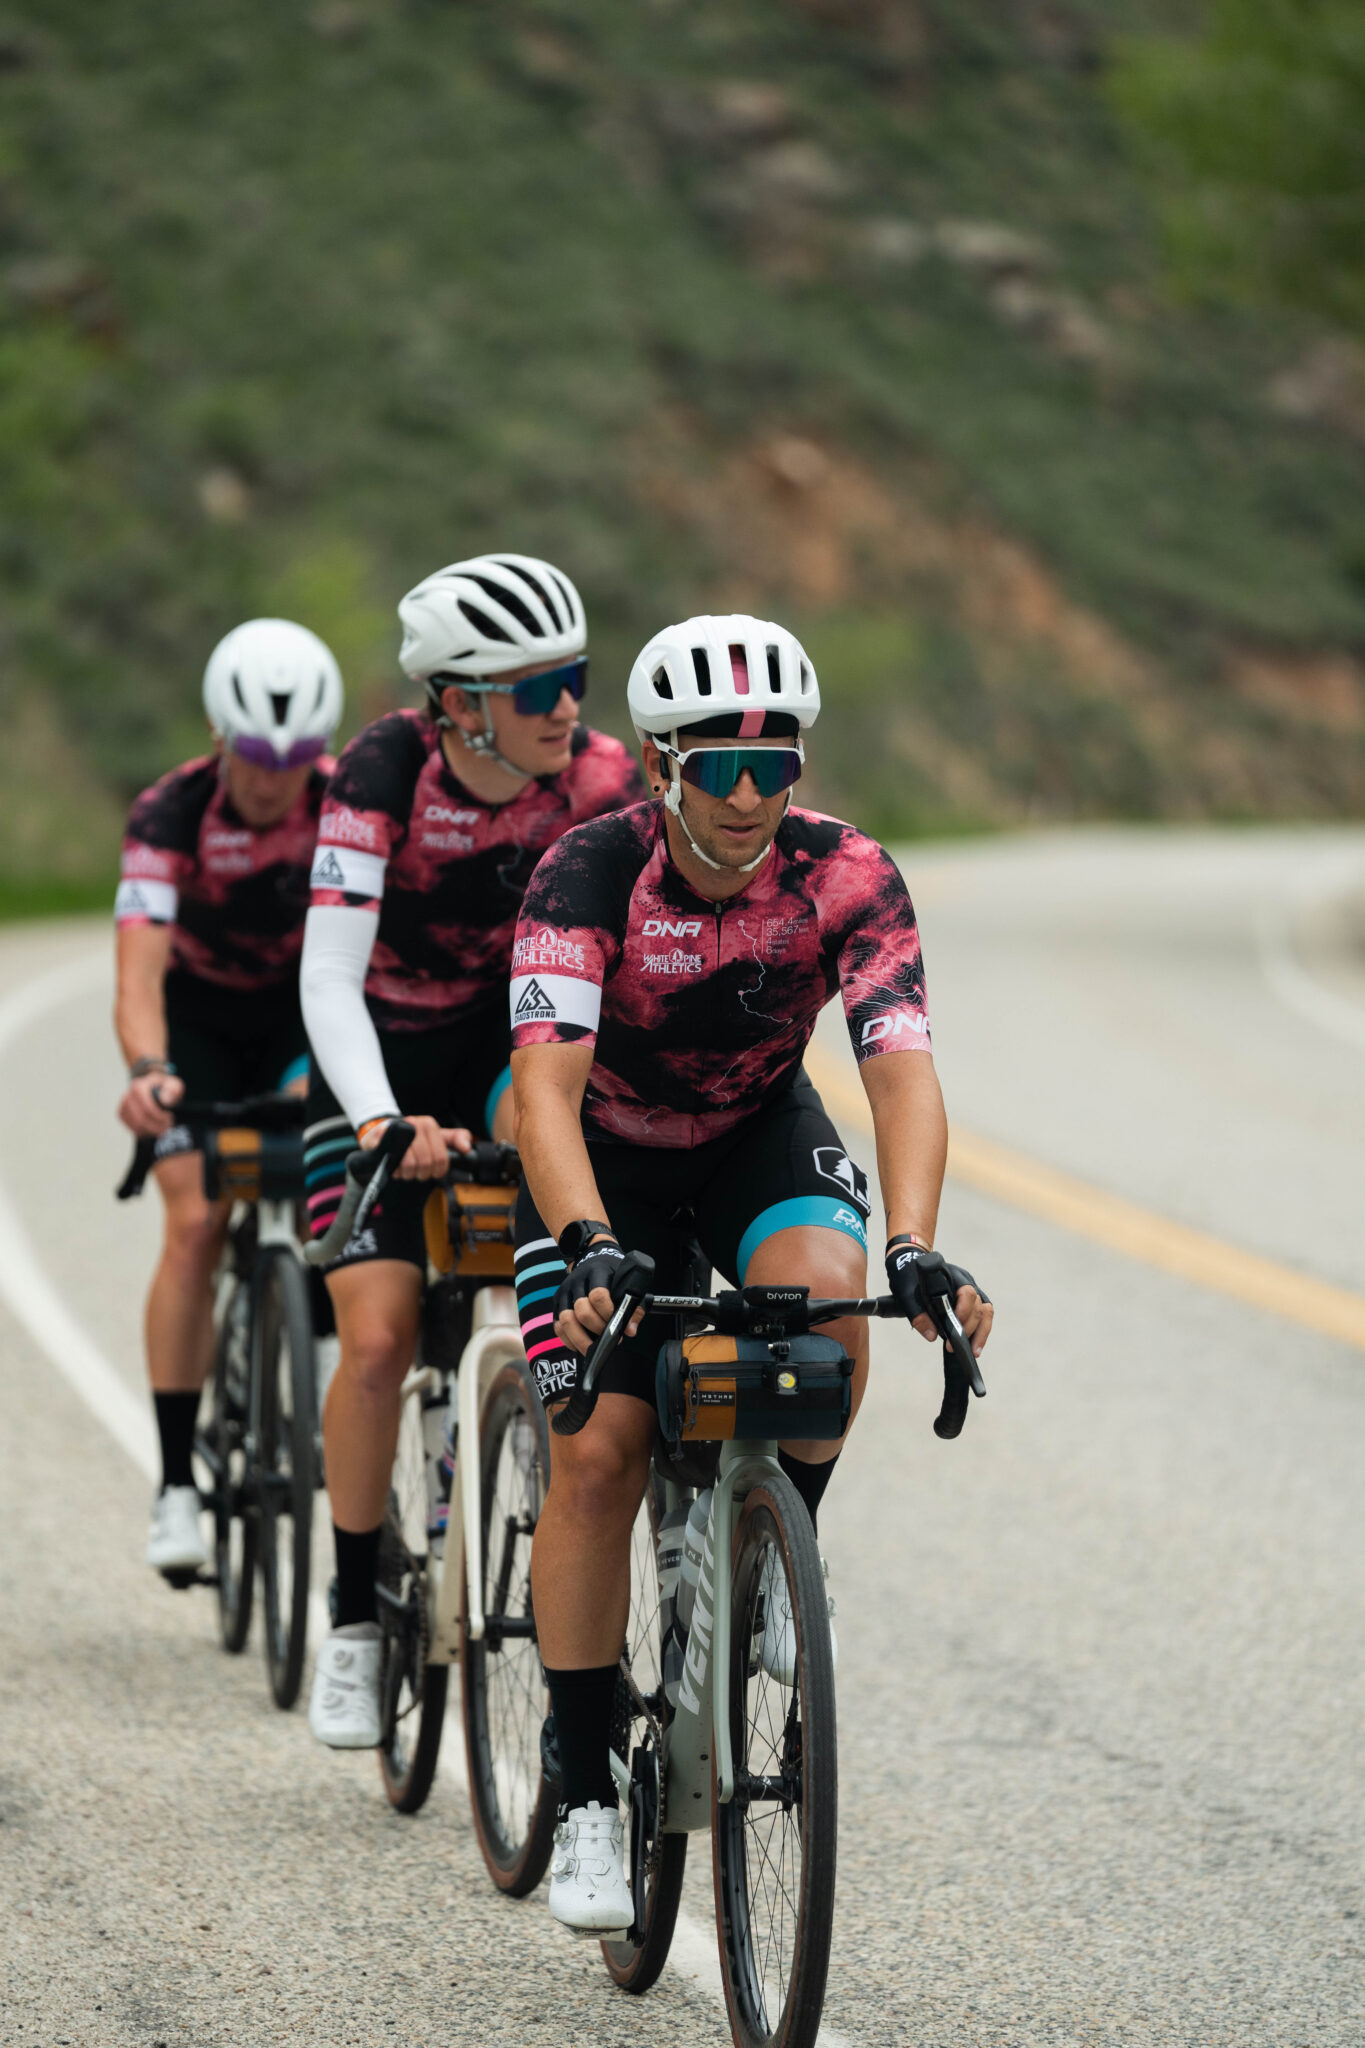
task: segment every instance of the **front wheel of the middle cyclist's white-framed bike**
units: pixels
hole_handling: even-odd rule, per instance
[[[465,1755],[483,1862],[499,1892],[522,1898],[544,1876],[555,1788],[540,1769],[544,1673],[530,1602],[530,1540],[548,1487],[551,1438],[526,1366],[510,1360],[479,1421],[483,1638],[469,1634],[460,1589]]]

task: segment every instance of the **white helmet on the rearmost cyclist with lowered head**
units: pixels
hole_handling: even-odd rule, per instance
[[[209,725],[264,768],[317,760],[342,721],[336,655],[291,618],[248,618],[217,643],[205,668]]]

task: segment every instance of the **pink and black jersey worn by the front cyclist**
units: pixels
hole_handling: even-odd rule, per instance
[[[589,1139],[702,1145],[788,1085],[837,991],[860,1061],[929,1047],[919,928],[862,831],[790,809],[724,903],[673,864],[663,807],[569,831],[516,930],[512,1044],[589,1044]]]

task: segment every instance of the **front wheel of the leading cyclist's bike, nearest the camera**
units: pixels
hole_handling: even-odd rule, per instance
[[[796,1636],[790,1683],[761,1657],[782,1581]],[[810,2048],[835,1911],[835,1669],[814,1530],[782,1473],[749,1493],[735,1532],[729,1694],[735,1798],[724,1806],[712,1765],[724,2003],[739,2048]]]

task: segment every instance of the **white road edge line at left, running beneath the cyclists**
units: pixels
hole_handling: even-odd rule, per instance
[[[0,1061],[29,1026],[78,995],[106,987],[108,979],[111,961],[104,952],[82,954],[82,958],[53,967],[0,997]],[[147,1405],[92,1343],[57,1294],[39,1264],[33,1239],[25,1231],[4,1182],[0,1182],[0,1294],[72,1391],[129,1454],[137,1470],[153,1481],[158,1448]],[[313,1593],[309,1599],[309,1622],[313,1640],[332,1626],[321,1593]],[[469,1792],[463,1747],[446,1743],[442,1755],[442,1776]],[[714,2001],[724,2005],[714,1933],[698,1927],[688,1913],[677,1915],[669,1966],[696,1978]],[[851,2048],[831,2028],[821,2028],[819,2044],[821,2048]]]

